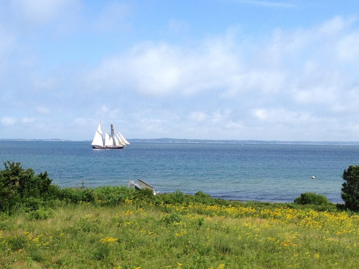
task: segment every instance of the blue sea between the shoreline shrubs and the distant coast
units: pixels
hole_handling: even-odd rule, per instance
[[[127,185],[140,178],[156,191],[267,202],[304,192],[340,198],[343,170],[359,164],[357,145],[132,143],[93,150],[90,142],[0,141],[0,161],[47,171],[60,187]],[[4,166],[1,166],[4,167]],[[315,176],[315,179],[312,179]]]

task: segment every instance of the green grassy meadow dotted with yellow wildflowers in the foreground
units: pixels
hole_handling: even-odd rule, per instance
[[[1,268],[358,268],[349,211],[99,190],[91,202],[78,189],[84,201],[2,215]]]

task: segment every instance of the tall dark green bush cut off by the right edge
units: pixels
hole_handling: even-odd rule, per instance
[[[341,198],[344,200],[345,207],[352,210],[359,210],[359,165],[350,165],[344,169],[342,178],[344,183],[341,188]]]

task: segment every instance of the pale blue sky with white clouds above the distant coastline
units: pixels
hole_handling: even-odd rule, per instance
[[[359,1],[0,1],[0,139],[359,141]]]

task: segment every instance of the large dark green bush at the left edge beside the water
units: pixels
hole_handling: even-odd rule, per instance
[[[31,168],[24,170],[20,162],[4,162],[0,170],[0,211],[12,213],[16,209],[33,211],[46,200],[55,199],[59,192],[57,185],[51,185],[48,174],[35,175]]]

